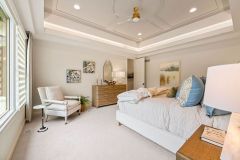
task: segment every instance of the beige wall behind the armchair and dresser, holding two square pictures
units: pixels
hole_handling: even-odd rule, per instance
[[[76,45],[66,45],[50,41],[34,40],[33,42],[33,103],[39,104],[37,87],[59,85],[65,95],[92,94],[92,84],[96,84],[96,75],[102,77],[103,64],[111,60],[114,71],[125,71],[127,58],[106,54],[100,51]],[[66,83],[66,69],[81,69],[83,60],[96,62],[96,73],[82,73],[82,82]]]

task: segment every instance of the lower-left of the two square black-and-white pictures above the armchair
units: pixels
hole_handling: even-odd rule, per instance
[[[67,83],[81,83],[81,70],[67,69]]]

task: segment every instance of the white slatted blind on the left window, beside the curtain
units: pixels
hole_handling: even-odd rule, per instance
[[[26,35],[20,27],[16,35],[16,104],[20,108],[26,104]]]

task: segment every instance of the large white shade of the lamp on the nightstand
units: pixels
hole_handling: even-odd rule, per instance
[[[204,104],[240,113],[240,64],[208,68]]]

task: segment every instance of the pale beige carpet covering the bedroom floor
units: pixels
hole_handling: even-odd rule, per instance
[[[115,120],[116,106],[92,108],[50,118],[49,130],[37,133],[40,115],[26,124],[13,160],[175,160],[175,155]]]

